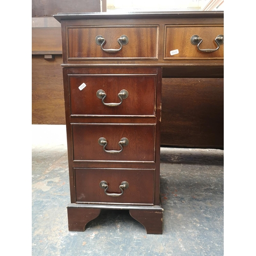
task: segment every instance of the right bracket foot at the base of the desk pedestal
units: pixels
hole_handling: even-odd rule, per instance
[[[163,211],[162,210],[130,210],[130,215],[140,222],[147,234],[162,234]]]

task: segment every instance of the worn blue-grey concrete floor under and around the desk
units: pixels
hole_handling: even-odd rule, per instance
[[[146,234],[125,210],[102,210],[68,231],[64,125],[32,125],[32,255],[223,255],[222,150],[161,148],[163,234]]]

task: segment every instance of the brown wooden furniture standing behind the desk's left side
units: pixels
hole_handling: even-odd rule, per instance
[[[32,0],[32,124],[65,124],[58,12],[100,12],[101,0]]]

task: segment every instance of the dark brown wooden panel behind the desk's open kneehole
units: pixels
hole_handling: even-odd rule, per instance
[[[223,146],[223,78],[165,78],[162,95],[163,145]]]

